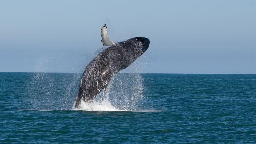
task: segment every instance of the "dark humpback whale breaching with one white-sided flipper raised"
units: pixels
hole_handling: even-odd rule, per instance
[[[102,42],[110,46],[99,53],[85,68],[74,106],[78,108],[81,101],[92,102],[105,90],[111,78],[139,58],[149,47],[149,39],[134,37],[127,41],[112,43],[107,35],[107,27],[101,29]]]

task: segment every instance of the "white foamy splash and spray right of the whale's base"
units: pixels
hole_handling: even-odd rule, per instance
[[[93,102],[81,101],[79,108],[85,111],[139,111],[144,97],[143,79],[140,74],[115,75],[107,89],[102,91]]]

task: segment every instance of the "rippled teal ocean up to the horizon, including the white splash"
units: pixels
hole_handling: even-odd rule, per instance
[[[79,109],[81,73],[0,73],[0,143],[256,143],[256,75],[117,74]]]

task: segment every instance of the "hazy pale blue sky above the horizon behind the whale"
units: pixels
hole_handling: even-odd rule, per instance
[[[83,72],[113,42],[149,49],[124,73],[256,74],[256,1],[0,1],[1,72]]]

